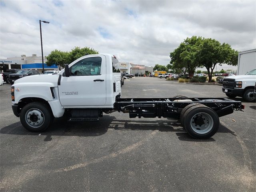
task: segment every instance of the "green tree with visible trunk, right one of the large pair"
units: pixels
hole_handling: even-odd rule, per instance
[[[215,39],[203,39],[200,45],[199,62],[207,69],[209,81],[212,81],[212,73],[217,64],[237,65],[238,52],[229,44],[220,44]]]

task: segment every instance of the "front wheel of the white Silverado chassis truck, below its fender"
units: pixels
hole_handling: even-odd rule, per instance
[[[20,112],[20,122],[26,130],[43,132],[52,124],[52,110],[42,102],[25,105]]]

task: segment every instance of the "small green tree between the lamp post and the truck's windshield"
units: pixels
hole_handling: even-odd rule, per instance
[[[64,68],[64,65],[68,63],[68,52],[63,52],[60,50],[53,50],[48,56],[46,56],[47,66],[52,66],[56,64],[60,68]]]

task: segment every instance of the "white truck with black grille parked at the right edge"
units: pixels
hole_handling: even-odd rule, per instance
[[[245,75],[228,76],[223,79],[222,92],[229,98],[242,97],[247,102],[255,102],[254,85],[256,68]]]

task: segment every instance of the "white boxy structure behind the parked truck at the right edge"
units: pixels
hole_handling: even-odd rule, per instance
[[[237,75],[244,75],[256,68],[256,49],[238,53]]]

